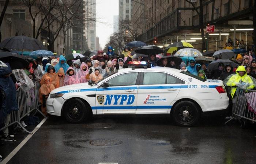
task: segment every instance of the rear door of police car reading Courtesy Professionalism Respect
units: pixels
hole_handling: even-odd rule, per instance
[[[180,91],[182,80],[163,72],[142,73],[136,114],[167,113]]]

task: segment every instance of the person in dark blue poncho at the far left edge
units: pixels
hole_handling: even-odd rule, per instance
[[[17,99],[16,99],[16,87],[12,78],[10,65],[1,64],[0,66],[0,129],[1,125],[8,125],[10,122],[10,113],[12,111],[19,110]],[[4,124],[4,120],[5,124]],[[13,141],[9,137],[8,128],[3,130],[4,134],[2,139],[5,141]]]

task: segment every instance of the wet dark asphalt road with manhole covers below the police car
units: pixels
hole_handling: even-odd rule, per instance
[[[256,163],[255,126],[208,117],[191,127],[165,116],[103,116],[68,124],[50,116],[10,164]]]

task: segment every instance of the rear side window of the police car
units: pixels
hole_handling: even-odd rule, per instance
[[[154,77],[154,78],[152,78]],[[181,84],[183,81],[166,73],[145,72],[143,77],[143,85],[154,84]]]

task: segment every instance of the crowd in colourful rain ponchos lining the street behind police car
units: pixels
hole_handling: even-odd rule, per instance
[[[216,58],[215,60],[218,59]],[[18,110],[16,89],[19,87],[32,96],[33,94],[29,93],[29,90],[34,86],[33,82],[40,81],[39,99],[42,104],[41,111],[47,115],[45,101],[52,90],[88,81],[96,83],[117,70],[129,67],[127,65],[128,62],[143,60],[150,63],[151,66],[180,69],[202,79],[221,79],[224,81],[230,75],[235,75],[226,83],[226,86],[232,87],[230,89],[230,99],[233,98],[237,82],[248,82],[251,77],[256,77],[256,58],[253,58],[251,53],[237,54],[235,63],[238,67],[236,68],[229,64],[219,63],[218,69],[212,71],[207,69],[207,63],[196,63],[193,58],[188,60],[187,63],[186,61],[175,63],[172,58],[157,58],[156,55],[147,57],[141,57],[137,54],[132,55],[129,47],[125,47],[121,54],[116,54],[113,48],[109,46],[108,52],[99,50],[97,54],[90,56],[90,58],[77,56],[68,61],[63,55],[58,58],[56,56],[38,57],[30,61],[25,69],[11,70],[8,64],[0,67],[0,106],[2,109],[0,112],[0,128],[8,124],[6,122],[10,120],[10,113]],[[251,77],[248,75],[251,75]],[[24,120],[22,121],[22,126],[27,126]],[[5,141],[12,141],[14,137],[13,132],[8,132],[8,128],[2,130],[0,135],[1,139]]]

